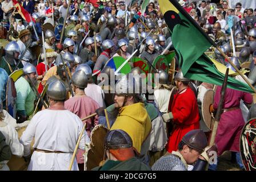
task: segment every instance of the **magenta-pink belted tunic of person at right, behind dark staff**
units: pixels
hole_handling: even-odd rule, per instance
[[[214,109],[217,110],[219,100],[221,99],[221,86],[218,86],[214,96]],[[253,102],[253,97],[250,93],[241,92],[227,88],[223,109],[238,107],[238,109],[226,111],[221,114],[219,121],[215,143],[218,147],[218,155],[225,151],[239,152],[240,135],[245,125],[242,111],[239,108],[240,100],[247,104]]]

